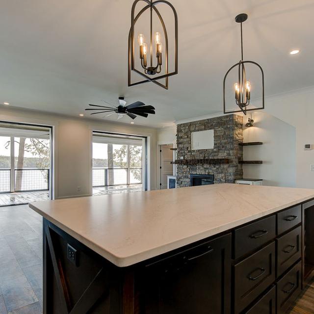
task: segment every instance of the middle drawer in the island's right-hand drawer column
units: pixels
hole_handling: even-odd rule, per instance
[[[277,277],[301,258],[301,226],[293,229],[277,241]]]

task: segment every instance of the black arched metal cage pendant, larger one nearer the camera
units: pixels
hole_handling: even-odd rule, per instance
[[[137,14],[135,14],[136,5],[138,2],[143,1],[145,2],[145,6],[139,10]],[[164,23],[164,20],[160,14],[160,12],[157,9],[158,4],[166,4],[168,5],[174,15],[174,34],[175,34],[175,43],[174,43],[174,71],[169,72],[169,44],[168,44],[168,33],[167,29]],[[139,18],[146,12],[147,10],[150,11],[150,38],[149,42],[147,44],[141,43],[140,44],[140,61],[142,69],[137,69],[135,66],[135,25],[136,22],[139,20]],[[161,52],[161,46],[157,46],[156,44],[156,61],[153,57],[153,16],[157,16],[158,21],[160,22],[160,25],[162,27],[163,35],[164,35],[164,55],[162,56]],[[158,33],[159,34],[159,33]],[[142,34],[140,34],[142,35]],[[139,35],[139,36],[140,36]],[[157,33],[156,33],[157,35]],[[159,34],[160,36],[160,34]],[[160,43],[159,43],[160,44]],[[144,47],[145,45],[145,47]],[[147,47],[147,45],[149,47]],[[129,32],[129,41],[128,41],[128,47],[129,47],[129,69],[128,69],[128,86],[134,86],[146,82],[153,82],[157,84],[160,87],[163,87],[165,89],[168,89],[169,87],[169,77],[178,74],[178,15],[174,8],[174,6],[166,1],[166,0],[135,0],[132,5],[131,9],[131,28]],[[157,49],[158,47],[158,49]],[[144,52],[143,52],[144,48]],[[160,50],[159,50],[160,49]],[[147,60],[147,53],[149,52],[149,60]],[[164,60],[162,60],[164,59]],[[155,62],[155,63],[154,63]],[[156,64],[156,65],[155,65]],[[144,69],[144,71],[143,71]],[[161,72],[161,69],[164,69],[164,74],[158,75]],[[135,72],[144,79],[132,82],[131,81],[131,72]],[[164,84],[161,83],[160,79],[164,79]]]

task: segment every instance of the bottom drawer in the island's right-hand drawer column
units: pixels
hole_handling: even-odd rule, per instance
[[[277,314],[284,314],[301,292],[301,262],[277,283]]]

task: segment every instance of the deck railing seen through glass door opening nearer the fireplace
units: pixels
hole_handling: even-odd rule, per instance
[[[142,168],[93,168],[93,187],[142,183]]]

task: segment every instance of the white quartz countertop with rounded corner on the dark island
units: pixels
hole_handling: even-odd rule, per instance
[[[117,266],[129,266],[314,198],[314,190],[213,184],[29,206]]]

